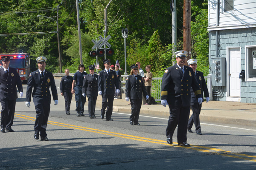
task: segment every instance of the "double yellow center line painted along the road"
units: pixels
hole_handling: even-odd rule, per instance
[[[22,118],[22,119],[28,119],[28,120],[35,121],[34,117],[25,116],[25,115],[21,115],[21,114],[17,114],[17,113],[15,113],[15,116],[19,117],[19,118]],[[115,136],[115,137],[119,137],[119,138],[131,139],[131,140],[136,140],[136,141],[141,141],[141,142],[148,142],[148,143],[154,143],[154,144],[163,144],[163,145],[174,146],[174,147],[182,147],[182,146],[178,146],[178,145],[167,144],[167,142],[163,141],[163,140],[145,138],[145,137],[141,137],[141,136],[128,135],[128,134],[124,134],[124,133],[110,132],[110,131],[106,131],[106,130],[93,129],[93,128],[90,128],[90,127],[69,125],[69,124],[65,124],[65,123],[52,122],[52,121],[48,121],[48,124],[61,126],[61,127],[68,127],[68,128],[78,129],[78,130],[84,130],[84,131],[87,131],[87,132],[99,133],[99,134],[108,135],[108,136]],[[173,142],[173,143],[177,144],[176,142]],[[256,162],[256,156],[250,156],[250,155],[240,154],[240,153],[231,153],[230,151],[225,151],[225,150],[212,148],[212,147],[191,145],[190,147],[183,147],[183,148]]]

